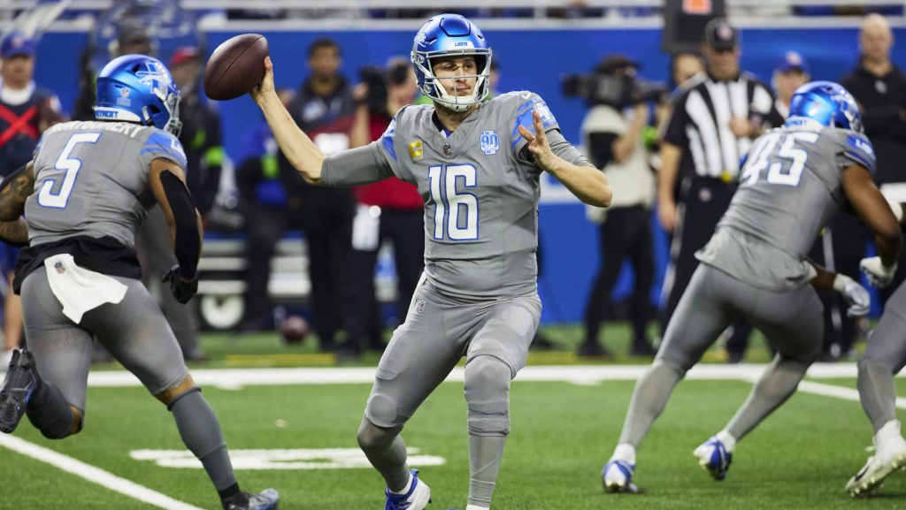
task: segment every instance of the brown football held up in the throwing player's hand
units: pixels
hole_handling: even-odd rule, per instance
[[[265,77],[267,39],[261,34],[240,34],[211,53],[205,66],[205,95],[216,101],[236,99]]]

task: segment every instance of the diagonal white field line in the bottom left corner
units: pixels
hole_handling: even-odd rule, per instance
[[[93,467],[91,464],[85,464],[81,460],[65,456],[62,453],[53,451],[50,448],[39,447],[34,443],[26,441],[15,436],[0,434],[0,447],[7,447],[14,452],[21,453],[25,457],[32,457],[43,463],[50,464],[53,467],[59,467],[72,475],[80,476],[93,484],[104,486],[121,495],[138,499],[149,505],[155,505],[168,510],[203,510],[198,506],[188,505],[172,497],[160,494],[146,486],[140,486],[130,482],[125,478],[113,475],[104,471],[100,467]],[[8,460],[8,459],[7,459]]]

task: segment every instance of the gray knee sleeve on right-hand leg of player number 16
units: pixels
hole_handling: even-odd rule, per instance
[[[466,364],[468,432],[476,436],[509,434],[509,386],[513,370],[494,356]]]

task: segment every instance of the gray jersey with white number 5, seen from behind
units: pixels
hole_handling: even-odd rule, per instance
[[[111,236],[134,247],[135,231],[156,204],[152,160],[185,168],[170,133],[128,122],[66,122],[44,132],[34,150],[34,194],[25,202],[31,245],[72,236]]]

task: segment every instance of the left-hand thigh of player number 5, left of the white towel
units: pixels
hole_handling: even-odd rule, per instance
[[[63,306],[53,295],[43,267],[25,278],[22,312],[28,350],[34,354],[38,373],[53,383],[70,405],[84,410],[92,335],[63,315]]]

